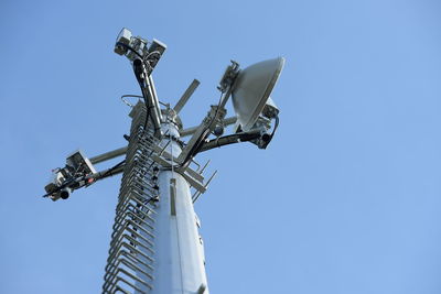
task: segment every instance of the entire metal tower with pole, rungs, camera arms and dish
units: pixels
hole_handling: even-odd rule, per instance
[[[246,141],[267,148],[279,122],[279,110],[269,95],[284,59],[269,59],[245,69],[232,62],[219,83],[219,102],[211,106],[200,126],[183,129],[179,112],[198,81],[190,85],[173,108],[164,104],[161,108],[151,73],[166,47],[157,40],[148,44],[123,29],[115,47],[131,62],[142,92],[135,106],[125,100],[132,107],[128,146],[90,160],[82,151],[74,152],[63,168],[53,171],[44,197],[67,199],[75,189],[122,172],[103,293],[208,293],[193,204],[216,172],[205,181],[208,163],[202,166],[194,157],[213,148]],[[229,97],[236,116],[225,118]],[[234,123],[234,132],[223,135],[225,127]],[[186,135],[191,139],[182,141]],[[126,159],[96,172],[94,164],[120,155]]]

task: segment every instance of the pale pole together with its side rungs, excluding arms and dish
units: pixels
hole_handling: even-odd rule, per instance
[[[190,185],[171,167],[181,153],[178,127],[162,123],[165,135],[159,141],[152,123],[143,129],[142,104],[130,116],[103,293],[208,293]],[[166,149],[166,155],[158,148]]]

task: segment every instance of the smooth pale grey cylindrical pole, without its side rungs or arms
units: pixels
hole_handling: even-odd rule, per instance
[[[181,148],[174,123],[162,124],[169,134],[161,145],[173,157]],[[173,170],[162,170],[159,175],[159,202],[155,214],[154,280],[153,288],[140,286],[147,293],[181,294],[208,293],[202,239],[197,230],[190,185]],[[139,292],[138,292],[139,293]]]

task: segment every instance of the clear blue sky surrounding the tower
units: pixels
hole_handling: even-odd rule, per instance
[[[441,293],[440,13],[434,0],[1,1],[0,293],[100,292],[120,178],[40,195],[69,152],[126,143],[119,96],[139,90],[112,53],[122,26],[168,44],[162,101],[202,81],[186,127],[229,59],[287,58],[269,149],[200,156],[219,171],[196,205],[212,293]]]

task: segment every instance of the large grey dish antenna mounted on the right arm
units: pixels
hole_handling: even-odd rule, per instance
[[[237,76],[232,100],[237,121],[244,131],[249,131],[256,123],[279,78],[283,64],[283,57],[256,63],[240,70]]]

